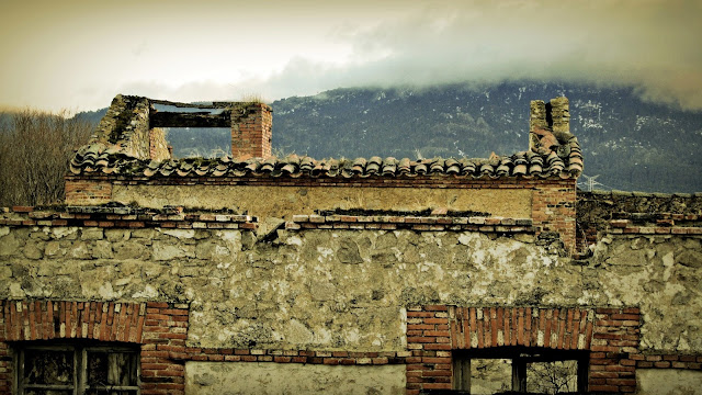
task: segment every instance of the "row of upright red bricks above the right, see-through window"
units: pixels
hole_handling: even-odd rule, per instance
[[[590,350],[595,311],[552,307],[449,306],[451,348],[483,349],[501,346]]]

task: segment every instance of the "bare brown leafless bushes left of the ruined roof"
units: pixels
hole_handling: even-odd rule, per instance
[[[61,202],[68,162],[93,126],[67,111],[0,113],[0,206]]]

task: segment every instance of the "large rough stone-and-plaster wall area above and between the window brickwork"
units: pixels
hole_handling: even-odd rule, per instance
[[[641,306],[644,351],[702,351],[700,237],[578,261],[524,234],[274,232],[0,227],[0,297],[188,302],[192,346],[361,351],[404,350],[408,305]]]

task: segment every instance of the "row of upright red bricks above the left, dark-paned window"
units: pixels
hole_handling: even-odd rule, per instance
[[[4,301],[4,341],[95,339],[141,343],[145,303]]]

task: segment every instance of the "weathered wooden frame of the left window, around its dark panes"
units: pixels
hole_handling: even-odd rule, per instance
[[[140,347],[138,345],[93,342],[93,341],[32,341],[18,342],[14,345],[14,387],[19,395],[25,395],[31,390],[56,390],[70,391],[73,395],[82,395],[88,391],[128,391],[129,394],[141,394],[141,361]],[[25,383],[25,351],[71,351],[72,352],[72,383],[71,384],[30,384]],[[126,353],[131,354],[134,370],[135,385],[110,385],[89,386],[88,385],[88,353]]]

